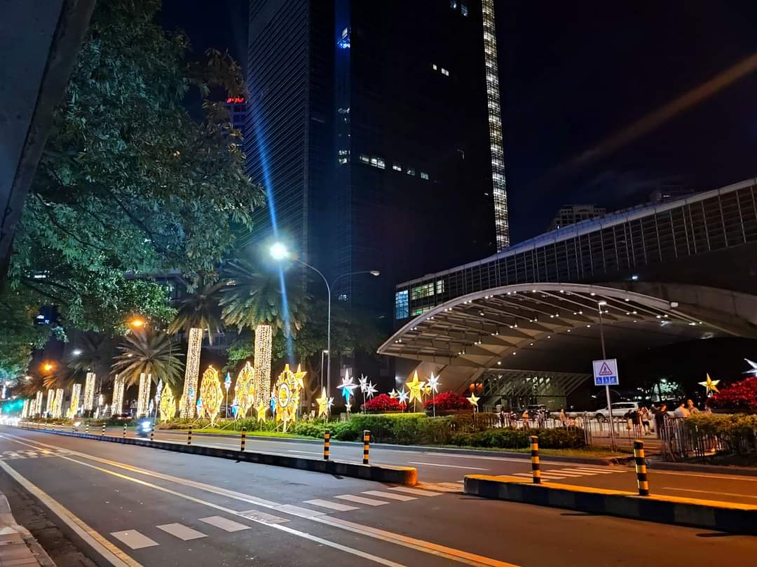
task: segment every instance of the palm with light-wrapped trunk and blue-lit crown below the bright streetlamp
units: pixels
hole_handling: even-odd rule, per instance
[[[220,305],[223,321],[255,331],[255,403],[270,393],[273,330],[296,335],[307,321],[307,292],[300,282],[287,284],[284,272],[262,270],[247,260],[230,262]],[[282,289],[283,288],[283,289]]]

